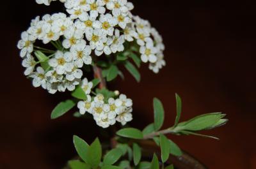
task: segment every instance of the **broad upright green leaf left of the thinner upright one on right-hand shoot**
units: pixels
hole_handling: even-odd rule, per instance
[[[161,101],[157,98],[154,98],[154,127],[155,130],[159,130],[164,123],[164,108]]]

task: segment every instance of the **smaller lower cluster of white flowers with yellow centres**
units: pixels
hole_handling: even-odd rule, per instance
[[[84,78],[82,82],[82,89],[87,94],[85,101],[79,101],[77,107],[80,114],[88,112],[93,115],[93,119],[98,126],[108,128],[109,126],[120,122],[125,125],[132,121],[132,100],[127,98],[124,94],[120,94],[119,98],[108,98],[106,100],[102,94],[97,94],[95,97],[90,96],[92,89],[92,82],[88,82]]]

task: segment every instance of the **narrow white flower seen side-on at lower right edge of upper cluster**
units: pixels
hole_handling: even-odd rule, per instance
[[[110,46],[111,48],[111,51],[113,53],[116,53],[116,52],[122,52],[124,51],[124,34],[122,34],[120,36],[120,31],[118,29],[115,30],[115,36],[113,36],[113,41],[112,41],[112,44]]]

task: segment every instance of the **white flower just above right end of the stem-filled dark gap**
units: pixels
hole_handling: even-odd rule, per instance
[[[65,48],[70,48],[77,43],[84,41],[83,39],[83,31],[81,29],[77,29],[74,26],[68,27],[68,29],[64,32],[65,40],[63,40],[62,45]]]

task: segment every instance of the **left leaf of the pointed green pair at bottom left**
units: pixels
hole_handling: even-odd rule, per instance
[[[82,138],[79,138],[78,136],[73,136],[73,142],[77,151],[77,154],[80,156],[81,159],[85,163],[88,163],[90,159],[88,159],[88,149],[89,145],[86,143]]]

